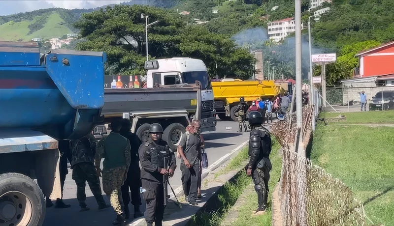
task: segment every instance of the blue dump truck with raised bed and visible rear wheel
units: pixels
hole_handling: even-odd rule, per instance
[[[103,52],[0,41],[0,225],[40,226],[61,197],[58,140],[103,120]]]

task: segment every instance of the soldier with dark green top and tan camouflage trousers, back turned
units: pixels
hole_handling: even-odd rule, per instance
[[[123,203],[121,187],[127,178],[131,161],[130,141],[119,134],[122,128],[121,119],[114,119],[111,123],[111,133],[97,144],[95,157],[96,170],[102,172],[102,189],[110,197],[111,205],[116,212],[114,225],[125,225],[125,205]],[[100,169],[101,159],[104,158],[103,169]]]

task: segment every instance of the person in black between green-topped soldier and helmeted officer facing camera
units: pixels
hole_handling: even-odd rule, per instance
[[[122,198],[123,203],[125,205],[125,215],[126,219],[130,218],[130,196],[129,196],[129,188],[131,191],[131,204],[134,206],[134,218],[142,217],[143,214],[139,210],[139,206],[141,203],[141,197],[139,196],[139,188],[142,186],[141,184],[141,169],[139,169],[139,155],[138,149],[141,146],[141,140],[139,140],[138,136],[131,133],[131,122],[128,119],[123,119],[122,121],[122,129],[120,130],[120,135],[127,138],[130,141],[131,146],[131,161],[129,171],[127,172],[127,178],[125,183],[122,185]]]

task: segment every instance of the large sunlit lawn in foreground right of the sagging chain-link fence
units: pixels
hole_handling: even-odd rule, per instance
[[[342,180],[376,225],[394,225],[393,134],[392,127],[319,126],[313,140],[312,163]]]

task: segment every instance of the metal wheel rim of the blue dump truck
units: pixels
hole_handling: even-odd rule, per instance
[[[4,226],[29,225],[32,219],[32,202],[17,191],[0,197],[0,224]]]

